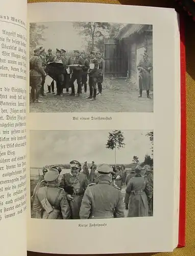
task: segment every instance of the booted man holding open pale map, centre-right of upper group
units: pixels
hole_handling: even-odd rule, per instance
[[[75,53],[75,59],[73,64],[78,65],[78,67],[72,68],[72,74],[70,78],[71,95],[79,96],[81,93],[81,75],[82,75],[82,66],[84,65],[84,59],[81,57],[79,50],[75,50],[74,53]],[[77,80],[77,84],[78,84],[76,95],[75,95],[75,85],[74,85],[75,80]]]

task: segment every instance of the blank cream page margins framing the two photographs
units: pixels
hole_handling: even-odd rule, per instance
[[[178,238],[178,221],[175,222],[178,212],[174,202],[179,195],[176,176],[179,174],[180,145],[179,132],[175,133],[180,127],[180,83],[178,66],[176,68],[179,53],[175,51],[179,46],[179,31],[175,11],[136,6],[44,3],[29,5],[28,17],[29,22],[153,25],[154,113],[30,113],[28,121],[30,130],[154,130],[155,169],[153,217],[43,221],[31,219],[29,211],[28,250],[67,254],[172,251]],[[91,119],[105,116],[112,117],[112,120]],[[78,120],[75,121],[74,117]],[[89,117],[89,120],[83,117]],[[81,223],[105,223],[106,227],[79,228]],[[113,242],[116,237],[117,243]]]

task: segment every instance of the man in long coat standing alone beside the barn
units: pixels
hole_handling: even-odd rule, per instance
[[[142,91],[147,91],[147,98],[150,97],[150,88],[151,88],[151,74],[152,63],[148,58],[146,51],[143,53],[143,59],[139,61],[137,69],[139,71],[139,98],[142,97]]]

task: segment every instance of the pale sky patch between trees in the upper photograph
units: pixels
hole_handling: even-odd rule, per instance
[[[46,40],[43,42],[43,45],[45,49],[52,48],[53,52],[55,52],[56,48],[63,48],[66,51],[83,50],[83,45],[86,44],[71,22],[46,22],[38,24],[47,27],[44,30]]]

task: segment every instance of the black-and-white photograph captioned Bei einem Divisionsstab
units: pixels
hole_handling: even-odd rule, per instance
[[[30,112],[153,112],[153,27],[30,24]]]

